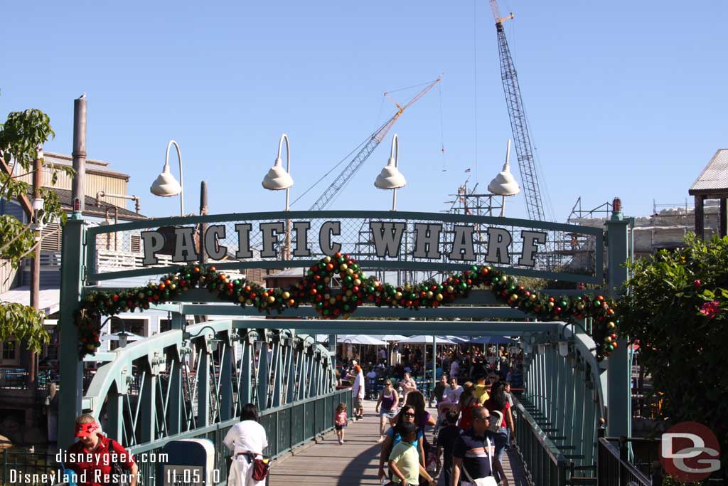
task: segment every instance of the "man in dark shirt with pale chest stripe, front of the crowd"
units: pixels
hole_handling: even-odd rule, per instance
[[[470,479],[495,478],[496,474],[502,478],[501,486],[508,486],[501,463],[495,457],[496,441],[501,442],[502,438],[488,430],[488,410],[472,409],[472,427],[460,434],[453,448],[453,475],[448,486],[457,486],[461,479],[463,486],[474,486]]]

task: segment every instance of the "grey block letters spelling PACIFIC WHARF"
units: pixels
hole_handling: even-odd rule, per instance
[[[411,228],[408,228],[408,224],[411,224]],[[475,262],[476,246],[480,248],[486,245],[484,250],[480,248],[481,251],[478,251],[486,255],[486,262],[525,267],[534,267],[539,247],[545,245],[547,238],[545,231],[521,230],[521,242],[518,245],[520,252],[513,254],[513,235],[502,227],[480,225],[476,230],[474,224],[449,224],[446,229],[442,223],[369,221],[368,230],[371,232],[373,253],[380,259],[399,259],[403,251],[411,251],[415,259]],[[411,250],[403,249],[403,239],[408,230],[414,232],[414,243],[411,246],[405,243],[404,248],[409,247]],[[290,256],[333,256],[341,251],[341,221],[323,222],[318,230],[312,229],[310,221],[290,221],[288,231],[292,241]],[[157,230],[141,232],[143,264],[158,264],[157,254],[163,248],[170,247],[173,248],[173,262],[196,262],[199,260],[196,232],[196,227],[175,227],[171,233]],[[277,259],[277,246],[285,234],[285,221],[241,222],[232,228],[226,224],[210,224],[200,238],[199,251],[205,251],[211,260],[220,260],[228,255],[234,255],[239,260]],[[476,241],[476,235],[480,235],[479,238],[483,238],[486,243]],[[167,241],[167,238],[171,241]],[[251,241],[261,242],[257,256],[253,253]],[[233,246],[231,242],[237,244]]]

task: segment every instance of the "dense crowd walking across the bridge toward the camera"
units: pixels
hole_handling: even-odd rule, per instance
[[[507,486],[501,460],[515,440],[510,379],[521,366],[521,357],[505,348],[494,356],[472,349],[443,354],[438,364],[450,374],[440,372],[429,396],[413,377],[421,366],[416,361],[422,359],[421,353],[403,354],[392,367],[387,366],[386,352],[377,353],[379,362],[370,364],[366,373],[353,359],[341,380],[352,384],[354,420],[363,418],[365,397],[376,398],[382,484],[434,485],[439,473],[446,486]],[[427,411],[433,401],[435,416]],[[345,427],[342,407],[345,414],[345,405],[340,404],[334,417],[337,431]],[[344,443],[343,432],[339,443]]]

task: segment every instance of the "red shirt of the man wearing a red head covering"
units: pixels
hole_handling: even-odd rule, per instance
[[[66,467],[78,474],[79,486],[104,486],[111,480],[111,462],[114,460],[131,470],[134,458],[119,442],[98,434],[99,444],[93,450],[86,450],[83,442],[76,442],[68,447],[68,462]],[[111,450],[109,450],[111,444]],[[114,457],[112,457],[112,453]],[[84,477],[85,474],[85,477]]]

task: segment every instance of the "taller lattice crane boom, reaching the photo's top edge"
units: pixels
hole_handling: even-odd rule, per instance
[[[513,143],[515,154],[518,158],[518,170],[521,171],[521,183],[523,195],[526,196],[526,210],[529,218],[537,221],[547,221],[544,212],[544,205],[541,199],[541,189],[534,161],[534,149],[529,136],[529,126],[526,122],[526,111],[523,110],[523,98],[521,98],[521,87],[518,85],[518,74],[515,71],[513,58],[510,55],[508,41],[505,38],[503,23],[513,18],[513,13],[507,17],[501,17],[498,3],[490,0],[491,12],[496,21],[496,32],[498,34],[498,52],[501,66],[501,79],[503,81],[503,93],[508,105],[510,117],[510,128],[513,130]]]

